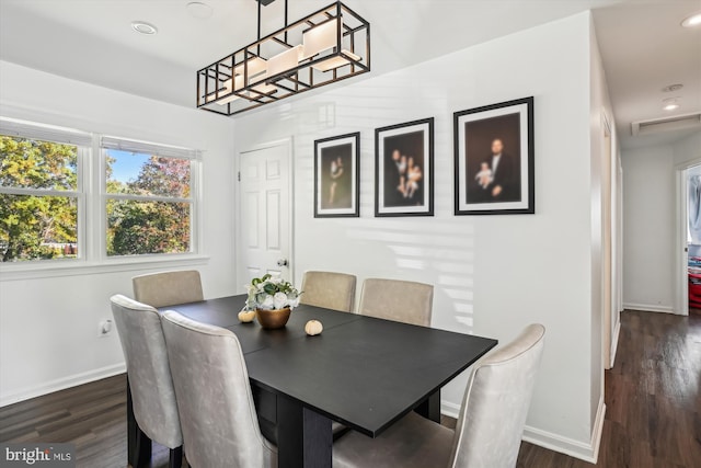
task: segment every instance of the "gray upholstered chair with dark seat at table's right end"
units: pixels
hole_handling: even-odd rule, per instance
[[[545,329],[528,326],[475,365],[455,431],[415,413],[372,440],[352,432],[333,446],[334,468],[513,468]]]

